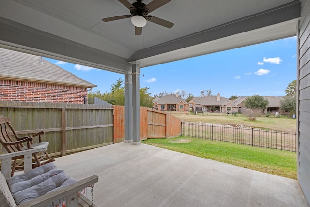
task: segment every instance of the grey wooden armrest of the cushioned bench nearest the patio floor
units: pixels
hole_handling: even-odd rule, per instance
[[[51,204],[52,202],[55,202],[63,197],[66,197],[66,207],[78,207],[78,192],[96,182],[98,182],[98,176],[93,175],[71,185],[64,186],[59,190],[47,193],[38,198],[32,199],[31,201],[22,203],[17,207],[47,206],[48,204]]]

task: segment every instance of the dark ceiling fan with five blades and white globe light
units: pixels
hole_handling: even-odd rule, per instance
[[[119,19],[131,18],[132,24],[135,25],[135,35],[142,34],[142,27],[146,25],[147,21],[159,24],[167,28],[173,27],[172,22],[166,21],[156,16],[149,15],[150,12],[153,12],[155,9],[158,9],[166,3],[169,3],[171,0],[153,0],[147,5],[142,3],[143,0],[136,0],[136,2],[132,4],[127,0],[118,1],[130,10],[130,15],[103,18],[102,21],[109,22]]]

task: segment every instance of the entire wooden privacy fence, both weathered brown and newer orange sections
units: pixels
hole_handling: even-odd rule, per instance
[[[45,132],[51,156],[123,142],[124,111],[124,106],[0,101],[0,115],[12,119],[18,135]],[[141,140],[181,135],[181,121],[169,113],[140,107],[140,121]]]

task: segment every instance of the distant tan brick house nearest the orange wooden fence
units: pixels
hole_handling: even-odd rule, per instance
[[[189,104],[179,94],[170,94],[157,100],[153,108],[162,111],[189,111]]]

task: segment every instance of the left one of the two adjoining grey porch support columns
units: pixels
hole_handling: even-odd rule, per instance
[[[125,139],[132,143],[132,68],[125,73]]]

